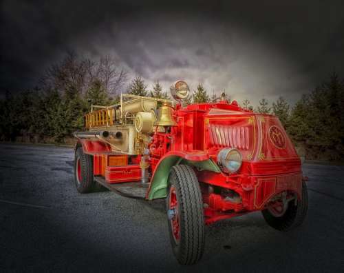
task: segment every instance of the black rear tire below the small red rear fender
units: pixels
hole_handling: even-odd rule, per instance
[[[81,179],[78,180],[77,162],[80,160]],[[85,154],[83,148],[76,148],[74,159],[74,182],[76,190],[80,193],[88,193],[94,190],[93,156]]]

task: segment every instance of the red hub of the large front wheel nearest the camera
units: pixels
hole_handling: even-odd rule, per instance
[[[171,230],[175,243],[180,240],[180,221],[179,221],[179,207],[177,194],[175,193],[175,186],[171,185],[169,191],[169,220]]]

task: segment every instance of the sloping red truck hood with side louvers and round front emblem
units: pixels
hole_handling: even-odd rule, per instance
[[[292,163],[288,172],[300,170],[294,145],[275,116],[212,109],[205,116],[204,130],[204,149],[213,156],[223,148],[237,148],[243,162],[253,163],[252,172],[266,173],[263,169],[271,163],[284,168],[286,161]]]

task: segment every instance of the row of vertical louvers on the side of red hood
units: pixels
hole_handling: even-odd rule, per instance
[[[250,143],[248,127],[211,124],[209,135],[212,145],[248,150]]]

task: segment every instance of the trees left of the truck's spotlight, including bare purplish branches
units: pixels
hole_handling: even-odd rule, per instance
[[[156,81],[148,90],[141,77],[127,85],[127,73],[111,57],[91,61],[69,52],[47,69],[39,88],[0,99],[0,141],[66,143],[83,130],[91,105],[119,103],[121,90],[129,94],[168,99]]]

